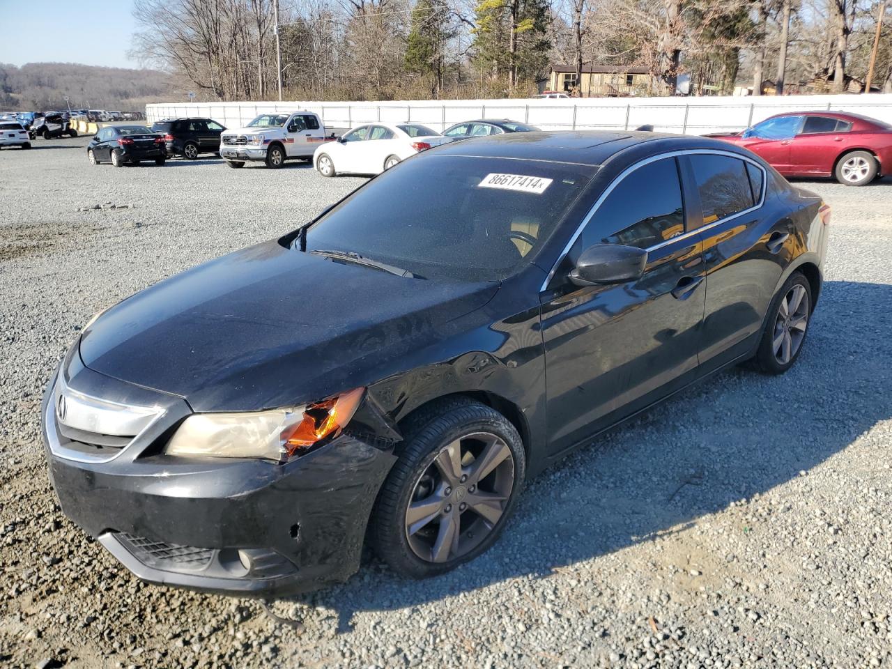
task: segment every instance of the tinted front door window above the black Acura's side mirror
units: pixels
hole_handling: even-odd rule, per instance
[[[681,184],[674,158],[636,169],[601,202],[582,231],[576,253],[594,244],[646,249],[684,232]]]

